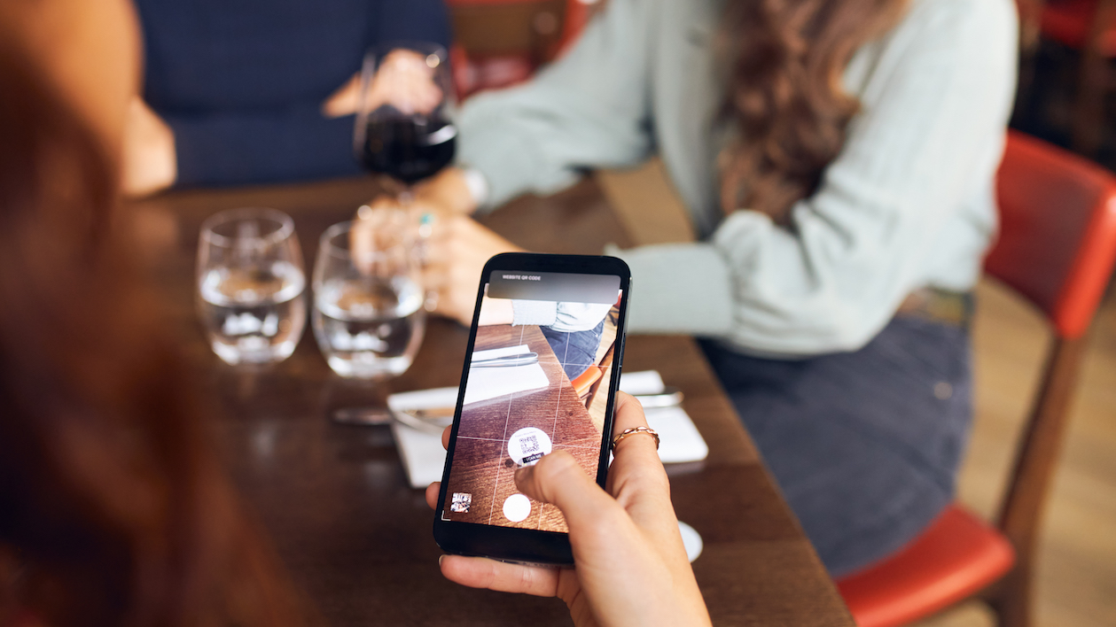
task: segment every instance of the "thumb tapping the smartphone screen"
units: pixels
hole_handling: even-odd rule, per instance
[[[598,524],[619,509],[566,451],[555,451],[533,466],[516,471],[516,485],[536,501],[557,505],[571,532]]]

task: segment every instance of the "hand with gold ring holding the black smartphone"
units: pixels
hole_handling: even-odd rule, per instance
[[[646,425],[639,403],[619,393],[614,432]],[[516,473],[525,494],[554,503],[566,517],[574,569],[444,556],[442,573],[473,588],[559,597],[578,626],[710,625],[655,441],[626,437],[615,455],[607,493],[564,451]],[[433,483],[426,490],[431,508],[439,489]]]

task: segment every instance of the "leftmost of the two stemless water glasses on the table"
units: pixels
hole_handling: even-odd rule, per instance
[[[281,361],[306,326],[302,251],[289,215],[273,209],[222,211],[202,223],[198,309],[218,357]]]

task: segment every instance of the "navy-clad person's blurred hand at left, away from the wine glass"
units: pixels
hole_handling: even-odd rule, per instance
[[[179,176],[174,132],[138,96],[128,105],[122,158],[121,187],[128,196],[165,190]]]

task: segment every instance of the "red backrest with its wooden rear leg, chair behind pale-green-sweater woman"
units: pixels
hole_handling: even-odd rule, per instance
[[[1016,549],[1008,577],[1018,585],[1008,588],[1027,595],[1084,355],[1083,336],[1116,261],[1116,177],[1067,151],[1011,132],[997,193],[1000,237],[984,267],[1038,306],[1056,337],[997,517]],[[1016,606],[1029,607],[1026,600]]]

